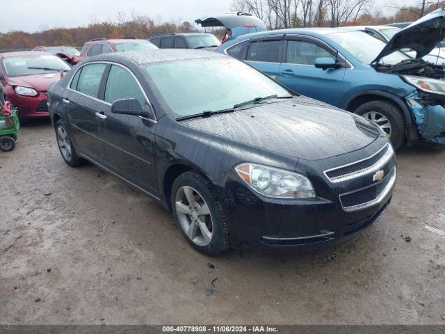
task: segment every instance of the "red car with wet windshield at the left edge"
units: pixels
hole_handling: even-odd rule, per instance
[[[47,90],[70,65],[40,51],[0,54],[0,86],[20,118],[49,116]]]

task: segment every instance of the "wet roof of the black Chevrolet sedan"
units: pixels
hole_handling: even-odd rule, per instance
[[[129,61],[138,65],[151,63],[164,63],[170,61],[185,61],[188,59],[224,58],[225,54],[195,49],[153,49],[147,51],[124,51],[109,54],[99,54],[83,61],[90,63],[94,61],[114,61],[116,63],[128,63]]]

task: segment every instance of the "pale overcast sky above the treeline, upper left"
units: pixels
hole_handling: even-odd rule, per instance
[[[232,0],[0,0],[0,32],[40,31],[54,27],[82,26],[115,19],[119,11],[194,24],[203,15],[229,11]]]

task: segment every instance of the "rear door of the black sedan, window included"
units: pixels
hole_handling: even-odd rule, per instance
[[[100,164],[104,161],[101,117],[105,104],[98,97],[106,67],[104,63],[80,67],[63,99],[76,150]]]

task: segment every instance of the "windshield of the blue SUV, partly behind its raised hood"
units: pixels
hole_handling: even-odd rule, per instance
[[[343,49],[355,57],[357,61],[371,64],[377,58],[386,43],[361,31],[348,31],[341,33],[330,33],[329,38],[340,45]],[[394,51],[380,60],[381,64],[396,65],[401,61],[410,59],[409,56],[400,51]]]

